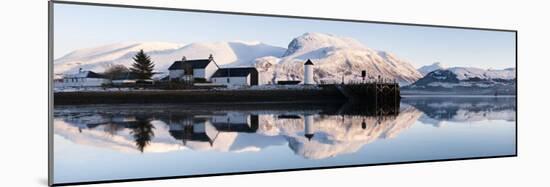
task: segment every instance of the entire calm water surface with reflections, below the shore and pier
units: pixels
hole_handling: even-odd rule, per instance
[[[54,182],[513,155],[515,98],[54,110]]]

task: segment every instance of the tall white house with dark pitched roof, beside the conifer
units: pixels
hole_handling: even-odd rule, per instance
[[[214,61],[212,55],[208,59],[187,60],[185,56],[180,61],[175,61],[169,68],[170,80],[189,80],[200,78],[210,81],[212,75],[220,67]]]

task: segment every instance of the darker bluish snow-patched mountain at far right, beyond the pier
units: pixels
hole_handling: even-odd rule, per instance
[[[516,69],[503,70],[453,67],[428,73],[404,90],[479,91],[479,94],[515,94]]]

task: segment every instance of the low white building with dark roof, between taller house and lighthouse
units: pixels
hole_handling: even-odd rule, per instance
[[[253,67],[222,68],[214,73],[211,81],[227,87],[258,85],[258,70]]]

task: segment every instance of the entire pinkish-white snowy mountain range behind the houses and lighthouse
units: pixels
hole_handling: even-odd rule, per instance
[[[71,73],[79,68],[103,72],[106,68],[122,64],[130,66],[133,55],[143,49],[155,63],[155,71],[167,72],[176,60],[207,58],[210,54],[221,66],[255,66],[261,83],[278,80],[302,80],[303,63],[314,62],[314,81],[340,82],[359,80],[361,70],[371,77],[381,75],[410,84],[422,75],[408,62],[394,54],[376,51],[361,42],[347,37],[321,33],[305,33],[294,38],[287,48],[261,42],[200,42],[188,45],[173,43],[121,43],[81,49],[54,62],[57,75]]]

